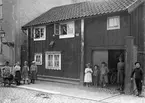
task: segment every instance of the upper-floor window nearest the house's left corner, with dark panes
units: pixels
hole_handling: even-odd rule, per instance
[[[34,41],[45,40],[45,39],[46,39],[46,28],[35,27],[34,28]]]

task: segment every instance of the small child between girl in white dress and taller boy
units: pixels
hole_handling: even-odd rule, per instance
[[[93,70],[93,85],[98,86],[99,85],[99,66],[95,65]]]

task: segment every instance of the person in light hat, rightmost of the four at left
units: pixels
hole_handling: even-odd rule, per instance
[[[35,61],[32,62],[32,65],[30,67],[30,74],[31,74],[31,83],[35,83],[35,80],[37,79],[37,65]]]

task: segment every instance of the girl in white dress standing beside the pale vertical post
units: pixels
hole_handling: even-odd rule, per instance
[[[90,86],[92,83],[92,69],[90,68],[90,63],[86,64],[85,68],[85,77],[84,77],[84,83],[86,83],[86,86]]]

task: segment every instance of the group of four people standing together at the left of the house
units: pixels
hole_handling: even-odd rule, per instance
[[[7,61],[5,66],[2,68],[1,73],[3,81],[8,81],[9,85],[11,85],[12,81],[15,81],[16,85],[20,85],[21,81],[23,81],[24,84],[26,82],[28,84],[35,83],[37,78],[37,65],[35,64],[35,61],[33,61],[29,68],[28,62],[25,61],[22,68],[19,62],[17,62],[13,67],[10,67],[9,62]]]

